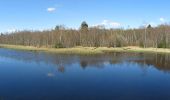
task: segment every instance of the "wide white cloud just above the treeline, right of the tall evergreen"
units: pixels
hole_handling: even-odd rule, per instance
[[[104,26],[105,28],[120,28],[121,24],[110,20],[103,20],[100,24],[94,26]]]

